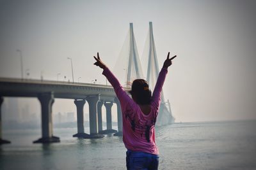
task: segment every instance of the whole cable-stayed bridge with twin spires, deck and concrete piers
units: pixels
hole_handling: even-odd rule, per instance
[[[126,82],[124,87],[127,91],[131,88],[131,83],[134,79],[144,78],[132,24],[130,24],[128,38],[128,49],[125,51],[124,55],[120,57],[120,59],[125,57],[127,60],[126,67],[122,67],[122,71],[125,70],[127,73],[125,75]],[[147,81],[152,88],[154,87],[156,78],[159,74],[156,47],[154,45],[152,32],[152,22],[150,22],[149,39]],[[102,134],[109,133],[115,133],[115,136],[122,136],[122,112],[115,91],[111,86],[95,83],[0,78],[0,144],[10,143],[10,141],[2,139],[1,133],[1,104],[4,101],[4,97],[37,97],[40,101],[42,138],[34,141],[34,143],[60,141],[60,138],[54,136],[52,131],[52,104],[54,104],[54,98],[74,99],[74,104],[77,108],[77,134],[74,134],[74,137],[102,138],[104,137]],[[83,106],[86,102],[88,102],[89,105],[90,134],[84,133]],[[111,107],[113,106],[113,103],[117,106],[118,131],[112,129]],[[105,130],[102,129],[103,105],[106,107],[107,129]],[[162,92],[162,103],[157,118],[157,125],[166,125],[174,121],[170,110],[170,103],[168,103],[168,108],[169,110],[166,107]]]

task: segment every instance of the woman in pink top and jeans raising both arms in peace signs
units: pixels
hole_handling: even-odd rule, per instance
[[[123,117],[123,141],[126,152],[127,169],[157,169],[159,164],[159,152],[155,142],[155,124],[161,102],[161,90],[167,74],[167,69],[172,65],[172,57],[164,61],[157,78],[153,95],[148,89],[147,81],[137,79],[132,82],[131,97],[124,91],[122,85],[111,73],[106,64],[93,56],[96,66],[103,69],[102,74],[106,76],[109,83],[115,89],[122,109]]]

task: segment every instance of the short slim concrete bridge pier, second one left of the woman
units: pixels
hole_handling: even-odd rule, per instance
[[[111,108],[113,106],[113,102],[104,102],[104,106],[106,107],[106,120],[107,120],[107,129],[102,131],[101,134],[112,134],[117,132],[116,130],[112,129],[112,113]]]

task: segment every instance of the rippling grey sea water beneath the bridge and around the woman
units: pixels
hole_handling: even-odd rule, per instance
[[[256,120],[158,127],[159,169],[256,169],[255,129]],[[61,142],[42,145],[32,143],[40,129],[3,131],[12,143],[0,146],[0,169],[126,168],[122,137],[72,138],[76,132],[54,129]]]

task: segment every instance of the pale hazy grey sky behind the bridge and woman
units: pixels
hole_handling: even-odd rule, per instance
[[[159,67],[168,51],[178,55],[164,84],[177,122],[256,118],[255,9],[255,1],[0,1],[0,76],[20,78],[20,49],[29,78],[72,80],[72,57],[75,81],[105,83],[92,56],[112,69],[130,22],[141,55],[152,21]],[[40,112],[36,99],[30,105]],[[56,99],[53,111],[76,108]]]

